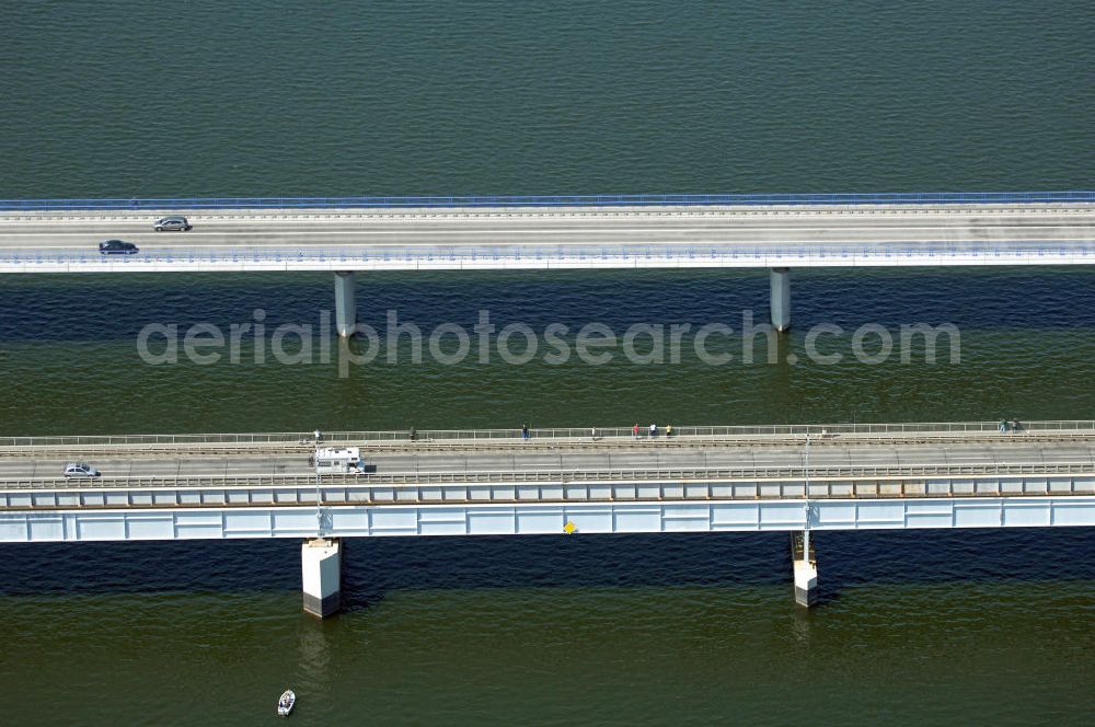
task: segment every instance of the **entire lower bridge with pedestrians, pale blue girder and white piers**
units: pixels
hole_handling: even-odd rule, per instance
[[[0,439],[0,542],[299,538],[306,608],[337,608],[341,538],[1095,524],[1095,422]],[[65,481],[88,460],[103,476]]]

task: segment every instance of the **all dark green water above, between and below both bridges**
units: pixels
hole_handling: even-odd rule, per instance
[[[0,197],[1091,188],[1084,3],[5,9]],[[152,367],[148,323],[316,323],[326,275],[0,278],[0,434],[1090,418],[1086,269],[795,273],[776,365]],[[362,275],[430,330],[726,322],[757,273]],[[961,359],[786,364],[816,323]],[[848,353],[846,342],[833,345]],[[244,357],[244,360],[247,360]],[[1095,533],[0,547],[2,724],[1086,724]]]

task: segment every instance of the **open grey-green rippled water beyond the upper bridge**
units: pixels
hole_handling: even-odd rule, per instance
[[[1082,2],[4,20],[0,197],[1049,189],[1095,168]]]

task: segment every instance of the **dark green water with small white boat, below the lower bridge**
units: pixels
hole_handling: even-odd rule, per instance
[[[12,724],[1085,724],[1092,545],[820,533],[805,613],[780,534],[361,540],[322,624],[296,542],[7,546],[0,673]]]

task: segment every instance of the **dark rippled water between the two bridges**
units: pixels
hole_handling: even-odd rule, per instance
[[[725,366],[698,360],[685,339],[679,365],[631,364],[619,349],[599,367],[576,356],[552,366],[542,355],[510,366],[497,353],[484,365],[473,350],[459,366],[428,354],[422,365],[404,356],[393,366],[381,355],[339,378],[337,346],[331,364],[319,362],[316,344],[316,362],[306,366],[272,356],[257,366],[250,348],[240,364],[222,351],[212,366],[185,357],[148,366],[135,345],[149,323],[177,324],[180,337],[201,322],[228,332],[253,322],[256,309],[266,311],[268,332],[287,322],[318,326],[332,304],[328,275],[8,278],[0,307],[20,315],[0,325],[12,384],[0,399],[0,434],[1090,418],[1095,411],[1084,381],[1095,360],[1087,304],[1095,275],[1085,268],[804,270],[793,285],[795,328],[775,365],[766,364],[763,337],[752,365],[741,361],[739,339],[726,344],[735,358]],[[381,334],[390,310],[428,334],[446,322],[471,333],[487,309],[499,330],[569,325],[573,343],[589,321],[620,335],[644,322],[740,331],[744,312],[765,320],[768,295],[766,275],[753,272],[376,274],[359,276],[358,312]],[[804,355],[805,335],[819,323],[846,331],[819,344],[843,356],[838,365]],[[896,347],[901,325],[953,324],[960,360],[950,362],[942,338],[934,366],[915,349],[908,364],[898,353],[861,364],[850,343],[865,323],[885,327]],[[799,362],[788,365],[788,355]],[[78,394],[76,402],[61,392]]]

